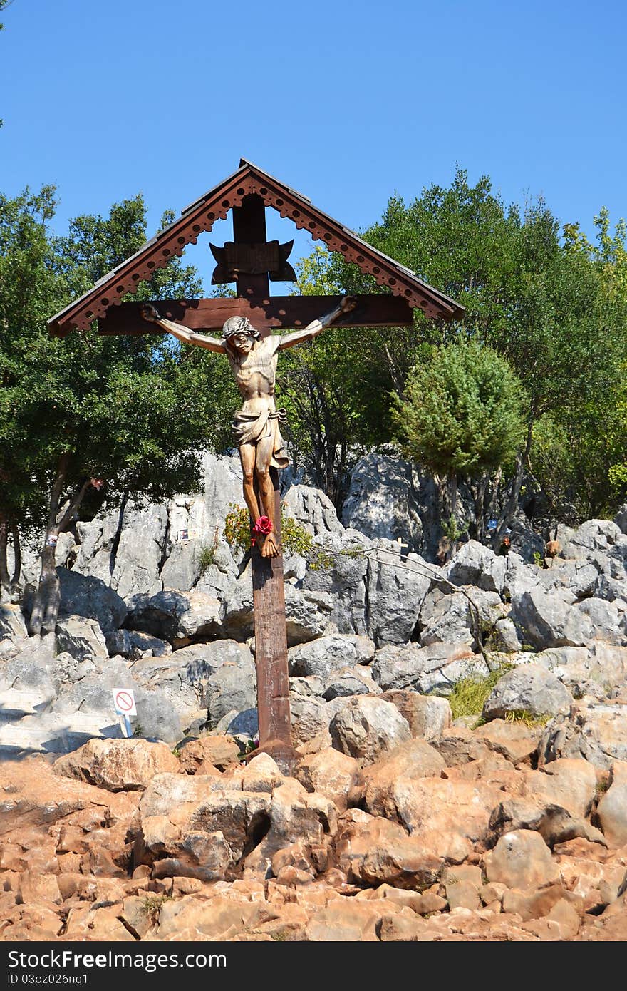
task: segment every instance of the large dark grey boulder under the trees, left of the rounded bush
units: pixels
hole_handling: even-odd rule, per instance
[[[422,549],[420,479],[409,461],[368,454],[357,463],[342,508],[342,522],[371,540],[403,540]]]

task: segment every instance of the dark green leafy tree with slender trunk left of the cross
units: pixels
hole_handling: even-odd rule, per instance
[[[54,207],[51,187],[0,198],[2,501],[9,523],[28,519],[45,531],[33,632],[54,627],[54,538],[80,507],[192,491],[211,425],[226,418],[215,364],[166,335],[49,335],[52,313],[146,240],[141,197],[116,204],[107,218],[77,218],[62,238],[51,231]],[[175,259],[138,295],[199,291],[194,270]]]

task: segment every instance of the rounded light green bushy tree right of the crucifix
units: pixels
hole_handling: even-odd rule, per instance
[[[524,433],[524,392],[509,364],[475,341],[425,345],[393,419],[405,454],[435,477],[441,515],[456,519],[458,481],[474,485],[484,535],[490,475],[514,461]],[[493,490],[492,490],[493,492]]]

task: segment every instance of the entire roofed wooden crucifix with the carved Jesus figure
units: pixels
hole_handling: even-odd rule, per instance
[[[295,279],[287,259],[292,242],[266,240],[265,208],[305,229],[329,250],[342,254],[370,275],[382,293],[356,297],[270,296],[270,281]],[[122,301],[138,282],[150,278],[173,255],[195,243],[217,219],[233,211],[232,242],[211,246],[218,263],[217,284],[233,281],[229,298]],[[88,330],[94,320],[101,334],[168,331],[185,344],[224,354],[243,397],[235,430],[244,475],[244,497],[251,515],[253,593],[260,749],[291,763],[289,680],[280,504],[277,470],[287,458],[280,433],[282,411],[275,408],[274,377],[279,351],[309,341],[331,323],[344,327],[401,326],[413,323],[414,309],[451,320],[464,308],[455,300],[367,245],[323,213],[301,193],[242,160],[240,168],[183,210],[181,217],[79,299],[49,321],[51,333]],[[291,333],[278,335],[277,329]],[[207,331],[221,330],[221,338]],[[200,331],[200,333],[199,333]]]

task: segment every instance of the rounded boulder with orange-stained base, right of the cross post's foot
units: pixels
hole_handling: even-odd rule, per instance
[[[370,695],[349,699],[332,718],[329,732],[336,750],[368,761],[411,739],[409,724],[396,707]]]

